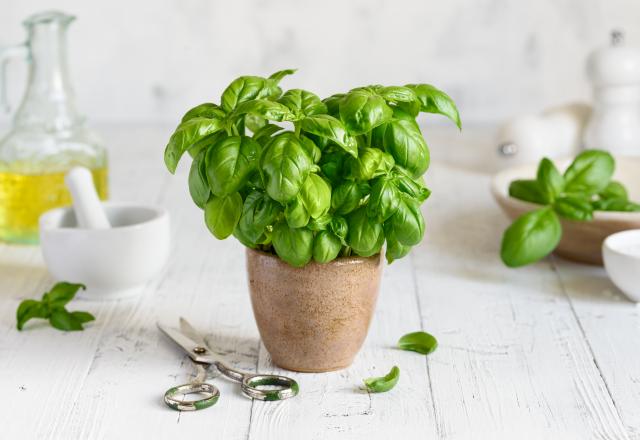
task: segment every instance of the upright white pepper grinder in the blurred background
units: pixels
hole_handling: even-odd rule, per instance
[[[587,60],[594,102],[584,146],[640,156],[640,50],[623,40],[622,32],[613,31],[611,45]]]

